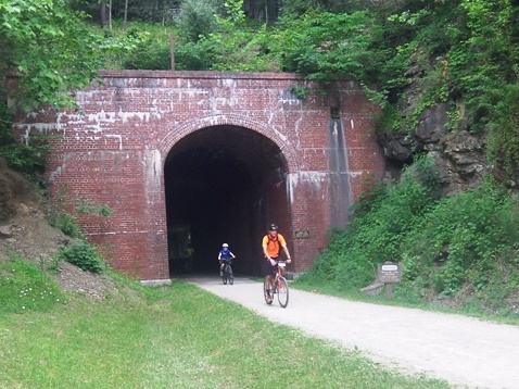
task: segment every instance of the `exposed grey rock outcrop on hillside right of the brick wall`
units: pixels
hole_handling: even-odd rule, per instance
[[[445,193],[466,190],[481,184],[482,177],[491,172],[484,150],[484,137],[467,130],[450,131],[446,127],[446,104],[426,110],[419,124],[410,131],[383,134],[378,141],[385,158],[396,165],[413,162],[416,153],[427,153],[439,166]],[[388,180],[396,180],[398,172],[389,171]]]

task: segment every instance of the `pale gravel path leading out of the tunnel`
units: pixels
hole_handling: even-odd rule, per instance
[[[400,371],[442,378],[457,388],[519,389],[519,327],[458,315],[352,302],[292,289],[287,309],[263,300],[263,285],[192,277],[192,284],[304,332],[357,347]]]

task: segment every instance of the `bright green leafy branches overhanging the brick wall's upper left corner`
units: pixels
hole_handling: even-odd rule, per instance
[[[20,76],[21,108],[72,106],[71,89],[85,87],[94,77],[100,41],[84,18],[65,0],[0,1],[3,63]]]

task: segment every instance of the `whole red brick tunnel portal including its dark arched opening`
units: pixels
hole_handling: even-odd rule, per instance
[[[50,192],[105,204],[114,213],[78,218],[110,265],[140,280],[183,273],[217,275],[223,242],[235,272],[261,273],[261,238],[279,225],[307,269],[330,228],[366,180],[383,174],[370,130],[378,109],[353,80],[301,100],[290,73],[101,71],[77,90],[79,110],[18,113],[15,134],[49,135]],[[8,80],[16,90],[16,79]]]

